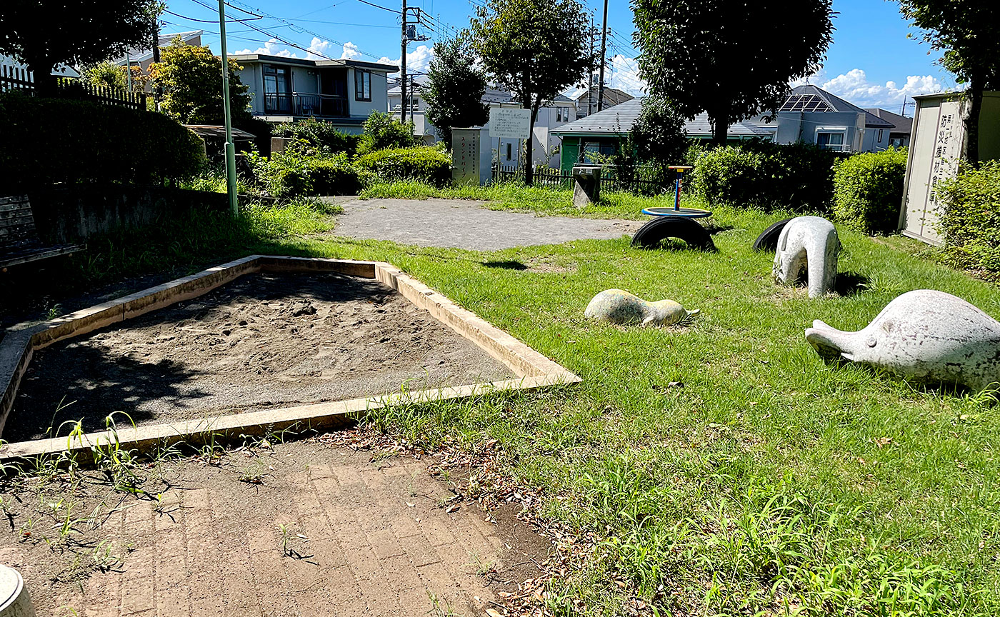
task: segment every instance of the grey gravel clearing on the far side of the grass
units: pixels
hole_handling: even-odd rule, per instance
[[[535,216],[487,210],[462,199],[370,199],[344,202],[333,233],[400,244],[496,251],[515,246],[609,240],[631,235],[643,221]]]

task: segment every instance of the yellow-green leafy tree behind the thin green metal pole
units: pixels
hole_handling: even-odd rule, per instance
[[[229,62],[229,101],[234,123],[250,118],[250,95],[237,71],[242,67]],[[222,124],[222,59],[208,47],[185,44],[180,37],[160,50],[160,62],[149,65],[150,80],[162,88],[163,111],[183,124]]]

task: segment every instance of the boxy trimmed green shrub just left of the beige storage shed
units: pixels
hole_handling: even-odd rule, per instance
[[[906,150],[855,154],[833,174],[833,215],[858,231],[891,233],[899,224],[906,175]]]

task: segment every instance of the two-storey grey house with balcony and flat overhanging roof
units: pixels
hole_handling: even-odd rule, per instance
[[[271,122],[314,117],[345,133],[361,133],[373,111],[388,106],[393,64],[359,60],[306,60],[262,54],[231,56],[249,86],[251,113]]]

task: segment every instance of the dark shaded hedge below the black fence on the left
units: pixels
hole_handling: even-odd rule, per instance
[[[56,183],[159,183],[198,174],[204,144],[164,114],[0,95],[0,192]]]

